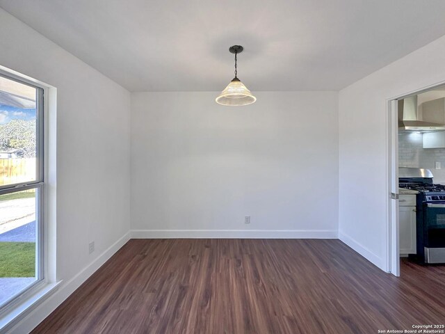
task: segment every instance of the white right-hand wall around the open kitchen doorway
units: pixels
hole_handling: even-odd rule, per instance
[[[387,99],[445,81],[444,54],[442,37],[339,93],[339,237],[384,270]]]

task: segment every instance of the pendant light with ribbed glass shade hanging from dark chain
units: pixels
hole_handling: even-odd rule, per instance
[[[223,106],[246,106],[257,101],[257,97],[254,97],[250,90],[238,79],[237,74],[237,55],[241,54],[243,47],[241,45],[234,45],[229,48],[232,54],[235,54],[235,77],[230,81],[223,92],[216,97],[216,103]]]

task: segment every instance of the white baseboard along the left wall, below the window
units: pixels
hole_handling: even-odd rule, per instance
[[[40,322],[48,317],[48,315],[53,312],[58,305],[60,305],[65,299],[67,299],[70,294],[74,292],[78,287],[81,286],[97,269],[99,269],[102,264],[104,264],[111,256],[113,256],[124,244],[130,239],[130,232],[127,232],[113,245],[108,247],[104,253],[99,255],[93,262],[88,264],[87,267],[82,269],[76,276],[67,282],[63,282],[58,290],[54,292],[48,299],[45,299],[40,305],[35,309],[31,310],[29,314],[24,316],[22,319],[13,321],[16,324],[11,324],[8,326],[10,331],[9,334],[22,334],[29,333],[35,328]],[[13,327],[12,327],[13,326]],[[12,328],[11,328],[12,327]]]

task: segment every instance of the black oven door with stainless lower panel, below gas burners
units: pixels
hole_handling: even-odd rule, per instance
[[[423,214],[425,262],[445,263],[445,202],[428,203]]]

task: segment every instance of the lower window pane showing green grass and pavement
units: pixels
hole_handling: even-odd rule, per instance
[[[36,193],[0,195],[0,305],[38,279]]]

